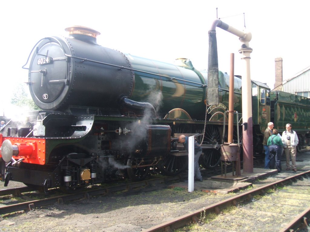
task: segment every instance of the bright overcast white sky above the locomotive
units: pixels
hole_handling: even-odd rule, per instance
[[[310,66],[308,1],[4,1],[1,33],[1,106],[5,110],[11,92],[26,82],[21,67],[43,37],[67,35],[64,28],[81,25],[101,35],[98,44],[124,53],[173,63],[188,58],[198,70],[207,69],[208,31],[218,16],[236,29],[252,33],[249,45],[251,79],[273,88],[275,58],[283,58],[283,79]],[[218,11],[216,11],[218,8]],[[231,17],[230,17],[231,16]],[[238,37],[216,29],[219,69],[229,72],[235,54],[235,75],[245,67]]]

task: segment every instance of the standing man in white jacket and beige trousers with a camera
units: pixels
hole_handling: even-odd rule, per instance
[[[282,142],[286,156],[286,171],[289,171],[292,167],[293,171],[296,172],[296,146],[299,140],[296,132],[292,130],[292,125],[290,123],[286,124],[286,131],[282,133]],[[292,160],[292,166],[290,165],[290,158]]]

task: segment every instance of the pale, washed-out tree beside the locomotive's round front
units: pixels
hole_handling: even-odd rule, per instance
[[[28,96],[23,84],[19,84],[15,88],[13,92],[13,97],[11,99],[11,104],[20,107],[28,107],[29,110],[40,110],[40,108]]]

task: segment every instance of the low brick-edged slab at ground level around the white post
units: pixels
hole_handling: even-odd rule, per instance
[[[252,186],[252,183],[207,179],[203,180],[202,182],[195,182],[194,191],[227,194],[231,192],[237,192],[241,189],[246,189],[247,187],[250,186]],[[176,188],[176,187],[188,189],[188,182],[179,182],[168,186],[168,188]]]

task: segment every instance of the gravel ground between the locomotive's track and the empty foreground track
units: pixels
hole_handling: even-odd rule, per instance
[[[284,160],[282,167],[285,167]],[[310,152],[297,154],[297,169],[310,169]],[[257,180],[254,186],[258,187],[291,175],[292,171],[282,171],[266,179]],[[23,184],[10,182],[8,187],[20,186]],[[0,188],[4,188],[3,185]],[[111,195],[35,208],[31,212],[1,215],[0,231],[143,231],[235,194],[238,193],[189,193],[183,188],[170,189],[164,184],[156,184],[132,191],[120,191]]]

